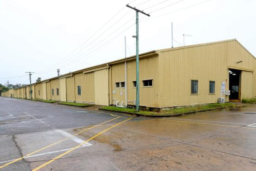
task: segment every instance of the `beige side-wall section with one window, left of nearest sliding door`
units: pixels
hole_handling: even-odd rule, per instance
[[[81,95],[77,86],[81,86]],[[75,98],[77,102],[94,103],[94,72],[75,74]]]

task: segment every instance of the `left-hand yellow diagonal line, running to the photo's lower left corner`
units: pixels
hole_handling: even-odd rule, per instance
[[[92,126],[92,127],[89,127],[89,128],[87,128],[87,129],[85,129],[85,130],[83,130],[83,131],[81,131],[81,132],[78,132],[78,133],[74,134],[74,136],[75,136],[75,135],[78,135],[78,134],[81,134],[81,133],[83,133],[83,132],[85,132],[85,131],[88,131],[89,129],[92,129],[92,128],[94,128],[94,127],[100,126],[100,125],[102,125],[102,124],[104,124],[104,123],[113,121],[113,120],[115,120],[115,119],[117,119],[117,118],[120,118],[120,116],[119,116],[119,117],[116,117],[116,118],[113,118],[113,119],[111,119],[111,120],[102,122],[102,123],[100,123],[100,124],[98,124],[98,125],[94,125],[94,126]],[[25,155],[25,156],[22,156],[22,157],[20,157],[20,158],[14,159],[13,161],[11,161],[11,162],[9,162],[9,163],[0,166],[0,169],[4,168],[5,166],[8,166],[9,164],[15,163],[15,162],[17,162],[17,161],[23,159],[24,157],[33,155],[33,154],[35,154],[35,153],[37,153],[37,152],[39,152],[39,151],[42,151],[42,150],[44,150],[44,149],[47,149],[47,148],[49,148],[49,147],[51,147],[51,146],[54,146],[54,145],[56,145],[56,144],[58,144],[58,143],[60,143],[60,142],[62,142],[62,141],[65,141],[65,140],[67,140],[67,139],[69,139],[69,138],[65,138],[65,139],[63,139],[63,140],[60,140],[60,141],[55,142],[55,143],[53,143],[53,144],[50,144],[49,146],[43,147],[43,148],[41,148],[41,149],[39,149],[39,150],[36,150],[36,151],[34,151],[34,152],[32,152],[32,153],[29,153],[29,154],[27,154],[27,155]]]

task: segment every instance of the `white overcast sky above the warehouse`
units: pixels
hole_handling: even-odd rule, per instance
[[[134,55],[128,2],[151,15],[139,14],[140,53],[170,48],[173,22],[175,47],[183,34],[192,35],[185,45],[236,38],[256,56],[255,0],[0,0],[0,83],[28,84],[25,72],[35,72],[35,82],[57,76],[57,68],[65,74],[124,58],[124,36],[127,56]]]

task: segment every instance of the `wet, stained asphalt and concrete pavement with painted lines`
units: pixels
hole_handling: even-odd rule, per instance
[[[256,170],[254,123],[256,105],[154,119],[0,97],[0,171]]]

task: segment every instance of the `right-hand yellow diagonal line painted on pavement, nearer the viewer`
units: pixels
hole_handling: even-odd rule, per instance
[[[107,128],[107,129],[105,129],[104,131],[98,133],[97,135],[95,135],[95,136],[91,137],[90,139],[84,141],[83,143],[79,144],[78,146],[73,147],[71,150],[68,150],[68,151],[66,151],[65,153],[62,153],[61,155],[55,157],[54,159],[51,159],[50,161],[48,161],[48,162],[42,164],[41,166],[37,167],[36,169],[33,169],[32,171],[37,171],[37,170],[43,168],[44,166],[46,166],[46,165],[52,163],[53,161],[55,161],[56,159],[59,159],[60,157],[66,155],[66,154],[68,154],[68,153],[70,153],[71,151],[76,150],[78,147],[80,147],[80,146],[84,145],[85,143],[91,141],[92,139],[94,139],[95,137],[101,135],[102,133],[104,133],[104,132],[110,130],[111,128],[116,127],[116,126],[120,125],[121,123],[124,123],[124,122],[126,122],[126,121],[128,121],[128,120],[130,120],[130,119],[132,119],[132,118],[126,119],[125,121],[119,122],[119,123],[117,123],[116,125],[113,125],[113,126]]]

